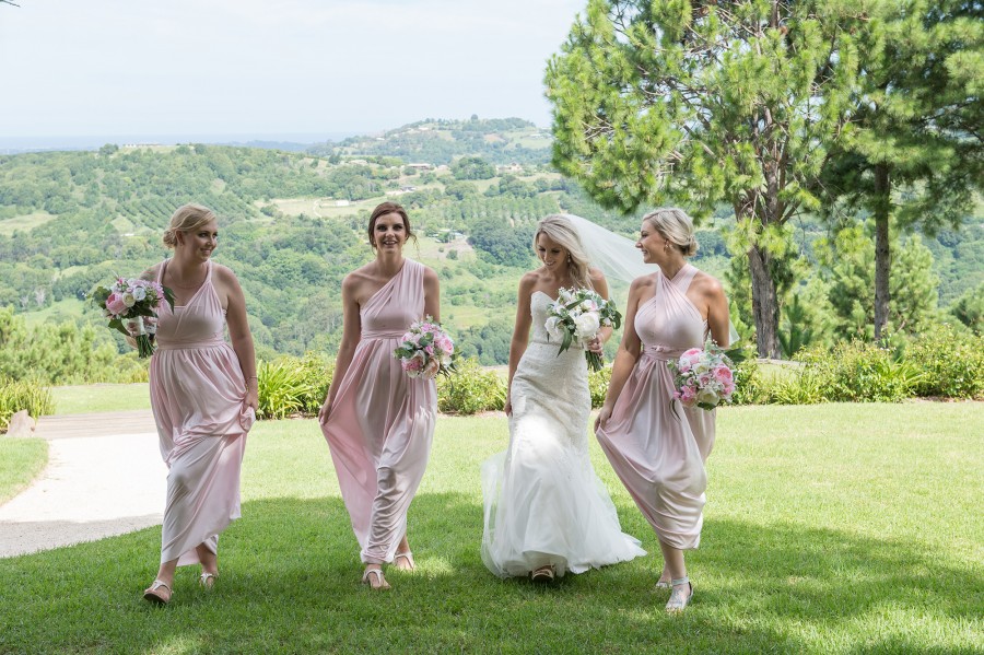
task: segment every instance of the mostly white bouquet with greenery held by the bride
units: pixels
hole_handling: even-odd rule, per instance
[[[622,315],[614,303],[590,289],[560,289],[547,315],[547,337],[561,342],[558,355],[571,348],[575,339],[586,346],[602,327],[618,329],[622,325]],[[585,350],[584,356],[591,371],[601,370],[604,363],[600,354]]]

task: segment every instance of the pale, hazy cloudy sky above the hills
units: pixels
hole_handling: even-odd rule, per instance
[[[14,0],[0,138],[315,137],[423,118],[548,126],[586,0]]]

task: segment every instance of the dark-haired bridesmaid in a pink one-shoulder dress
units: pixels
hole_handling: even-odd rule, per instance
[[[384,202],[368,225],[372,262],[342,281],[344,325],[335,377],[318,412],[342,500],[362,549],[362,582],[388,589],[383,563],[412,571],[407,511],[423,478],[437,416],[433,379],[393,356],[414,320],[440,320],[437,274],[403,257],[407,211]]]

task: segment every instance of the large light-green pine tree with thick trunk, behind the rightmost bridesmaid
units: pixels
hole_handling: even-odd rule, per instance
[[[598,202],[733,208],[762,356],[780,354],[783,225],[817,209],[854,84],[854,4],[589,0],[548,66],[554,165]]]

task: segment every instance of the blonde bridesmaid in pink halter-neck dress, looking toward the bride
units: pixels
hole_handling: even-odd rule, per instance
[[[672,587],[666,609],[680,611],[693,596],[683,550],[701,539],[704,461],[714,445],[715,412],[676,402],[673,413],[667,362],[703,347],[708,332],[727,348],[728,301],[721,282],[687,262],[698,245],[693,222],[681,210],[659,209],[643,218],[635,246],[659,270],[636,278],[629,290],[622,342],[595,432],[656,531],[664,559],[657,586]]]

